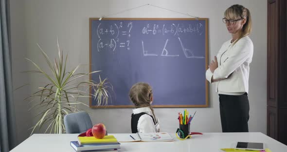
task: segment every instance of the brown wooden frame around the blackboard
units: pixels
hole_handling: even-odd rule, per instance
[[[89,47],[90,47],[90,72],[91,72],[91,23],[92,20],[99,20],[100,18],[89,19]],[[208,18],[197,18],[198,20],[205,20],[205,70],[208,69]],[[194,18],[103,18],[102,20],[197,20]],[[90,75],[91,79],[91,75]],[[91,88],[90,88],[91,94]],[[209,106],[208,100],[208,81],[205,80],[205,105],[152,105],[153,108],[205,108]],[[134,108],[134,105],[107,105],[107,106],[95,106],[92,105],[92,98],[90,97],[90,108]]]

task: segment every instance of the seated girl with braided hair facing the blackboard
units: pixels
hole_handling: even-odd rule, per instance
[[[153,95],[151,87],[144,82],[134,84],[129,91],[129,98],[135,105],[131,115],[132,133],[160,132],[160,122],[151,107]]]

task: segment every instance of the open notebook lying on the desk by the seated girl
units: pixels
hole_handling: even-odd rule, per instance
[[[116,136],[118,142],[174,141],[168,133],[130,133]]]

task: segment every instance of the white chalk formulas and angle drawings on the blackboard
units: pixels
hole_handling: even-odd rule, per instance
[[[126,27],[123,28],[125,25],[123,22],[120,22],[119,25],[116,23],[113,23],[108,26],[108,28],[105,28],[107,26],[101,27],[101,23],[99,23],[97,27],[97,36],[100,38],[98,40],[98,52],[100,51],[115,51],[117,46],[120,48],[126,48],[127,50],[130,50],[129,44],[131,40],[126,40],[124,42],[120,42],[117,44],[117,42],[120,41],[118,38],[119,34],[123,36],[128,36],[128,38],[131,37],[131,30],[132,30],[132,21],[128,22]],[[195,56],[194,51],[191,49],[185,48],[184,44],[182,43],[181,39],[179,38],[180,35],[182,34],[188,34],[188,33],[197,33],[199,35],[202,34],[202,24],[197,23],[197,24],[188,24],[187,26],[181,25],[181,24],[174,24],[171,23],[170,25],[166,24],[150,24],[147,23],[146,25],[143,26],[143,30],[141,31],[143,35],[158,35],[162,34],[163,36],[165,35],[173,35],[173,36],[178,36],[178,40],[181,46],[181,49],[183,51],[183,54],[186,58],[204,58],[204,57],[199,57]],[[121,31],[121,29],[126,30],[126,31]],[[108,36],[108,40],[103,40],[103,36]],[[142,40],[142,49],[143,49],[143,56],[148,57],[148,56],[163,56],[163,57],[179,57],[179,54],[170,54],[167,48],[167,44],[169,42],[169,39],[165,40],[165,43],[162,44],[162,50],[156,51],[159,52],[159,54],[151,54],[148,53],[148,50],[144,49],[144,41]],[[151,50],[150,50],[151,51]],[[155,51],[155,50],[153,50]]]

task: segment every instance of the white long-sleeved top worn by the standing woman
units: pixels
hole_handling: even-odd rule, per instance
[[[218,94],[242,95],[248,93],[249,64],[253,56],[253,43],[248,36],[240,38],[234,45],[231,39],[224,42],[217,54],[218,68],[214,73],[208,69],[206,79],[229,78],[215,82]]]

